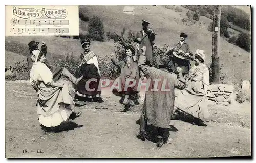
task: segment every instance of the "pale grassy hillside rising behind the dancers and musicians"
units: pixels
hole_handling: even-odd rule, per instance
[[[179,41],[179,33],[188,34],[187,42],[192,51],[196,49],[205,50],[207,63],[211,62],[211,36],[212,33],[207,30],[212,20],[207,17],[200,17],[200,20],[193,23],[183,22],[187,19],[187,9],[181,7],[182,12],[175,12],[164,6],[134,6],[135,15],[123,13],[124,6],[80,6],[80,10],[93,15],[100,16],[105,33],[121,33],[123,27],[134,32],[141,30],[141,21],[145,19],[150,21],[152,28],[156,32],[155,44],[160,46],[164,44],[173,45]],[[88,31],[88,22],[79,22],[81,31]],[[54,55],[66,55],[67,52],[79,56],[82,52],[80,41],[72,38],[62,38],[55,36],[15,36],[6,37],[6,50],[17,53],[14,45],[22,46],[20,54],[28,54],[28,42],[31,40],[45,41],[48,45],[49,57]],[[110,54],[113,50],[113,41],[97,42],[92,41],[92,49],[99,55]],[[238,80],[251,78],[251,55],[245,50],[228,43],[224,38],[220,40],[220,63],[223,64],[222,72],[226,74],[227,80]]]

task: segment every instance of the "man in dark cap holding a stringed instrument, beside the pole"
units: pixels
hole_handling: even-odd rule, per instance
[[[180,41],[177,43],[173,48],[172,48],[172,54],[170,55],[171,60],[173,61],[172,64],[172,71],[174,73],[178,73],[177,68],[180,67],[182,68],[182,74],[183,76],[185,74],[188,74],[189,69],[190,69],[190,59],[193,58],[193,54],[190,51],[189,45],[185,41],[187,38],[187,34],[181,32],[180,33]],[[177,53],[173,53],[176,51]],[[182,55],[181,55],[182,54]],[[183,57],[186,56],[186,57]]]

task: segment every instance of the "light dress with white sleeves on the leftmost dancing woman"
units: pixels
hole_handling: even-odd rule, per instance
[[[46,127],[54,127],[67,121],[74,107],[69,95],[69,84],[66,80],[58,80],[56,83],[64,83],[62,88],[48,85],[53,80],[50,69],[41,62],[35,62],[30,71],[30,84],[38,88],[37,113],[39,123]],[[69,104],[65,108],[64,104]]]

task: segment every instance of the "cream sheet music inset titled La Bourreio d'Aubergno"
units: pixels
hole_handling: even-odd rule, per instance
[[[6,36],[79,35],[78,6],[6,6]]]

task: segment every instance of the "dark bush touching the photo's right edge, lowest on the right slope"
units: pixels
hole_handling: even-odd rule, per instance
[[[246,51],[250,52],[251,50],[251,38],[249,34],[240,33],[238,39],[236,41],[236,45],[240,48],[245,49]]]

